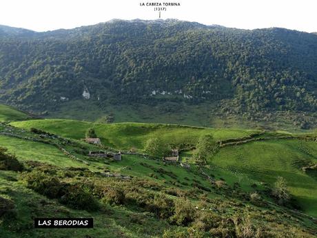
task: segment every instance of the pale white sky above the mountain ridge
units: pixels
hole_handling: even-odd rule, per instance
[[[162,18],[254,29],[317,32],[317,0],[0,0],[0,25],[36,31],[75,28],[110,19],[157,19],[141,2],[179,2]]]

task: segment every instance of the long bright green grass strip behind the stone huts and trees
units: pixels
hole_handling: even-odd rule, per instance
[[[245,137],[258,132],[257,130],[198,128],[154,123],[90,123],[67,119],[17,121],[12,123],[12,126],[27,129],[39,128],[72,139],[84,138],[85,131],[93,127],[103,144],[121,149],[142,149],[150,137],[160,137],[167,143],[177,145],[195,144],[198,137],[209,133],[214,135],[215,139],[223,140]]]

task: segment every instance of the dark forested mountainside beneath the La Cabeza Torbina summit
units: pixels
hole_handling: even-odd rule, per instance
[[[0,92],[1,101],[38,112],[79,99],[101,107],[207,102],[251,120],[274,111],[316,120],[317,36],[172,19],[51,32],[0,26]]]

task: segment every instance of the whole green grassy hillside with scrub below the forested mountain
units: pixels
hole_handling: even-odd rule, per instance
[[[0,198],[5,199],[0,199],[0,237],[314,237],[317,232],[317,181],[314,170],[303,171],[317,163],[316,141],[307,139],[309,134],[69,119],[6,121],[12,122],[0,124],[0,147],[7,150],[0,160],[12,155],[23,170],[0,163]],[[88,128],[106,147],[82,140]],[[209,134],[216,141],[254,135],[261,140],[220,147],[198,166],[196,143]],[[151,138],[180,148],[180,161],[143,155]],[[123,154],[122,161],[88,157],[88,151],[100,149],[141,154]],[[285,178],[291,204],[272,197],[278,177]],[[14,209],[6,211],[4,201]],[[93,217],[95,225],[90,230],[34,229],[32,217]]]

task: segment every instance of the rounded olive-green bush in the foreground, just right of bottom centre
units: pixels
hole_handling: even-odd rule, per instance
[[[188,199],[178,199],[175,202],[175,214],[171,218],[177,225],[187,226],[194,221],[196,210]]]

